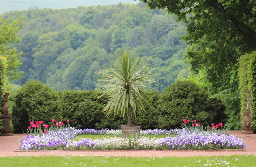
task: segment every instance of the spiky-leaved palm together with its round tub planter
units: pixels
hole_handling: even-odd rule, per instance
[[[150,78],[153,68],[142,64],[139,54],[131,56],[128,51],[122,51],[121,56],[110,63],[112,67],[104,65],[104,70],[98,73],[103,76],[98,79],[103,89],[100,97],[105,94],[109,97],[103,112],[107,118],[112,114],[127,117],[128,124],[122,125],[123,137],[139,136],[140,126],[132,124],[131,115],[142,114],[145,104],[152,107],[153,100],[147,90],[149,84],[155,82]]]

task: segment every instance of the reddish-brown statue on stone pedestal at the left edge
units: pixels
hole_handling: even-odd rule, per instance
[[[9,93],[4,94],[4,104],[3,104],[3,111],[2,111],[2,117],[3,119],[3,129],[1,129],[1,136],[13,136],[13,127],[11,124],[11,115],[9,113],[8,107],[7,107],[7,102],[8,102],[8,96]]]

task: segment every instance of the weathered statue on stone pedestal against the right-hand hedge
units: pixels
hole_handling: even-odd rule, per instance
[[[243,112],[244,122],[242,124],[242,133],[253,133],[252,117],[251,117],[251,97],[250,91],[246,91],[247,95],[247,106]]]

